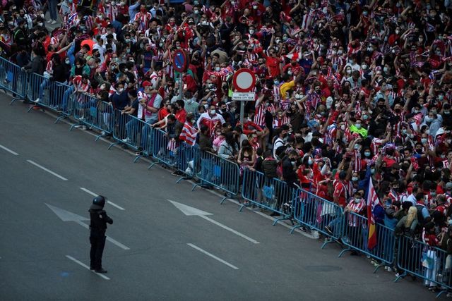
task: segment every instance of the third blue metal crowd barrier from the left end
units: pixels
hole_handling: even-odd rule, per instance
[[[81,125],[88,125],[90,128],[100,130],[97,141],[103,135],[112,135],[113,132],[113,106],[108,102],[102,102],[89,94],[82,94],[77,97],[73,106],[73,118]],[[76,125],[72,125],[72,130]]]

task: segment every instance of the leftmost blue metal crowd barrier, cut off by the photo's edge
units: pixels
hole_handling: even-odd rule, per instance
[[[11,61],[0,57],[0,89],[16,94],[10,104],[25,99],[27,73]]]

